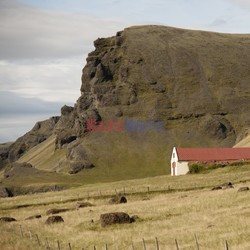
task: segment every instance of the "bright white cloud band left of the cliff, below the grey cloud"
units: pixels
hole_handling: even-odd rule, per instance
[[[45,62],[0,63],[2,91],[11,91],[22,97],[44,101],[73,103],[80,95],[81,57]]]

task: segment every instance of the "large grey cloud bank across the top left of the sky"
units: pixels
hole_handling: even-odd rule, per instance
[[[120,20],[53,12],[0,1],[0,59],[64,58],[86,54],[99,36],[127,26]],[[105,27],[105,28],[104,28]]]

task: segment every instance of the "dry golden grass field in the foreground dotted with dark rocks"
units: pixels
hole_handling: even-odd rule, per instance
[[[211,191],[211,187],[231,181],[234,188]],[[11,216],[17,222],[0,223],[1,249],[45,249],[46,238],[51,249],[142,249],[142,238],[147,249],[155,249],[158,237],[160,249],[195,249],[194,234],[201,249],[250,248],[250,192],[237,192],[250,185],[250,167],[227,167],[208,174],[180,177],[160,176],[138,180],[99,183],[29,196],[0,200],[0,216]],[[109,197],[125,188],[128,203],[109,205]],[[148,192],[149,188],[149,192]],[[75,209],[78,200],[94,207]],[[48,226],[44,222],[51,208],[68,208],[61,213],[64,223]],[[132,224],[102,228],[100,214],[127,212],[138,215]],[[31,215],[41,219],[27,221]],[[91,222],[93,220],[94,222]],[[22,226],[24,238],[21,237]],[[33,237],[30,240],[29,231]],[[38,235],[41,246],[35,238]]]

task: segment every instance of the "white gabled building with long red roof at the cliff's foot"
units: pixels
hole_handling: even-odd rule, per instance
[[[189,172],[188,164],[249,161],[250,148],[173,148],[171,176]]]

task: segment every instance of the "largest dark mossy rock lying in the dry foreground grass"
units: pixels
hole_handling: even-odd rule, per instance
[[[112,224],[131,223],[129,215],[123,212],[101,214],[100,221],[103,227]]]

